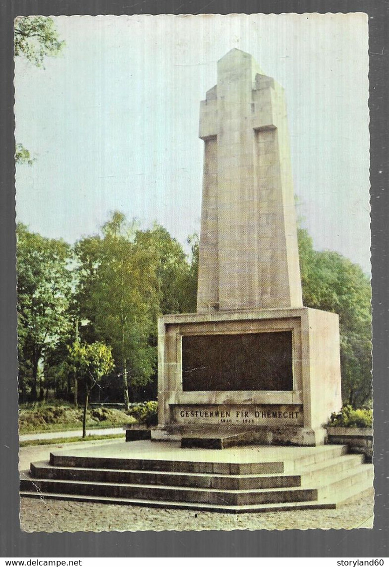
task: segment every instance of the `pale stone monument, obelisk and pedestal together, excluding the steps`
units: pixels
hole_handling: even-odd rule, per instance
[[[197,312],[159,320],[159,438],[317,445],[341,407],[339,319],[302,306],[283,88],[232,49],[199,136]]]

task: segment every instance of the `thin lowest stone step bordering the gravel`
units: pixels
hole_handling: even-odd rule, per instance
[[[79,496],[77,494],[62,494],[54,492],[29,492],[28,490],[20,490],[20,496],[27,498],[44,498],[63,501],[77,502],[95,502],[106,504],[119,504],[130,506],[144,506],[149,508],[176,508],[182,510],[193,511],[213,511],[224,512],[230,514],[246,514],[254,512],[281,512],[292,510],[318,510],[318,509],[335,509],[336,503],[330,501],[306,501],[306,502],[288,502],[288,503],[267,503],[257,505],[244,506],[228,506],[225,504],[210,504],[199,502],[176,502],[176,501],[156,501],[145,500],[142,498],[111,498],[104,496]]]

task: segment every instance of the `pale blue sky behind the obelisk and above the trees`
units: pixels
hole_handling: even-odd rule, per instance
[[[317,249],[370,271],[367,16],[58,16],[66,46],[45,69],[15,66],[16,211],[75,242],[112,210],[200,228],[199,102],[236,47],[284,88],[298,214]]]

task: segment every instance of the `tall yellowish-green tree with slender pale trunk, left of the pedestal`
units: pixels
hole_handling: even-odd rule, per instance
[[[152,336],[159,313],[157,255],[135,244],[135,228],[122,213],[113,213],[102,232],[102,239],[83,239],[76,245],[76,297],[80,316],[87,315],[92,323],[89,332],[112,346],[129,408],[129,387],[148,383],[156,367]]]

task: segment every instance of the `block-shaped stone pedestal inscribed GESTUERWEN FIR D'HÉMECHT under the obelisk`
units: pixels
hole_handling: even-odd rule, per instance
[[[341,407],[336,314],[298,307],[166,315],[158,345],[158,422],[168,437],[319,445]]]

